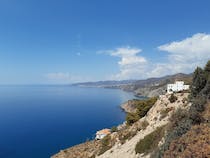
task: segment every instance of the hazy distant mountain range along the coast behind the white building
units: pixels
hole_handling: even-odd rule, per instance
[[[176,80],[183,80],[186,84],[192,82],[192,74],[178,73],[164,77],[148,78],[144,80],[123,80],[123,81],[98,81],[76,83],[73,86],[81,87],[101,87],[101,88],[117,88],[125,91],[134,92],[139,96],[157,96],[164,94],[166,85]]]

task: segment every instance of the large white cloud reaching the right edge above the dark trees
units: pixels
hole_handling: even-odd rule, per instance
[[[158,49],[168,53],[168,62],[158,64],[157,70],[168,69],[165,73],[192,72],[210,59],[210,34],[197,33],[184,40],[161,45]]]

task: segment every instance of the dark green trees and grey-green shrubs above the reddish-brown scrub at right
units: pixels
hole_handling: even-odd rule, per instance
[[[195,70],[190,89],[191,94],[189,100],[192,102],[192,105],[189,111],[178,109],[172,115],[170,119],[171,123],[168,125],[165,143],[151,156],[152,158],[163,157],[164,152],[169,150],[169,146],[173,140],[183,136],[193,125],[201,124],[205,121],[202,113],[206,109],[207,99],[210,99],[210,61],[208,61],[204,70],[201,68]]]

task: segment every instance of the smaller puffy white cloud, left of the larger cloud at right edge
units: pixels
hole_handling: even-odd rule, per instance
[[[115,50],[103,51],[111,56],[120,58],[118,62],[120,72],[112,75],[111,79],[124,80],[141,78],[143,73],[145,73],[145,65],[147,64],[147,60],[139,56],[141,51],[141,49],[131,47],[121,47]]]

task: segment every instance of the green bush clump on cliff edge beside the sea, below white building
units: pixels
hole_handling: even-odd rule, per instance
[[[132,125],[140,118],[144,117],[150,108],[155,104],[157,101],[156,97],[149,98],[147,100],[135,100],[136,101],[136,112],[135,113],[127,113],[126,121],[128,125]]]

